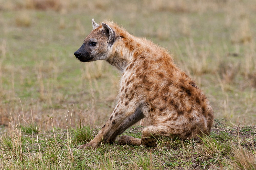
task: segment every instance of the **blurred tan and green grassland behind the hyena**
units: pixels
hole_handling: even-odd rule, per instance
[[[255,1],[0,0],[0,130],[10,118],[47,131],[64,129],[67,120],[104,124],[120,74],[73,55],[92,18],[166,47],[205,91],[216,118],[255,124]]]

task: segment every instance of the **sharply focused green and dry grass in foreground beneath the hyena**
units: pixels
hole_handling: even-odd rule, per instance
[[[253,126],[226,126],[225,129],[249,127],[250,132],[256,130]],[[82,140],[92,139],[98,128],[78,125],[68,131],[55,129],[29,136],[11,128],[12,136],[4,134],[0,140],[2,169],[240,169],[245,160],[249,165],[244,169],[254,169],[256,163],[256,135],[239,138],[231,133],[228,137],[222,128],[215,128],[200,141],[160,138],[156,148],[114,143],[86,150],[75,148]],[[132,127],[124,134],[138,134],[142,128]],[[89,136],[82,138],[78,135],[80,131]]]

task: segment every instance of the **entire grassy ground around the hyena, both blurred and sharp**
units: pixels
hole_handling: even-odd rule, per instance
[[[92,18],[114,20],[166,47],[228,126],[219,123],[199,143],[163,139],[157,148],[76,151],[76,129],[93,128],[86,140],[92,138],[113,111],[119,88],[115,68],[73,55]],[[252,166],[244,169],[255,168],[255,26],[254,1],[0,0],[0,167],[241,169],[245,158]],[[139,129],[126,133],[139,136]]]

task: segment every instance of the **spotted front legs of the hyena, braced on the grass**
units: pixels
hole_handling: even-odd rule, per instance
[[[91,142],[78,146],[77,149],[96,148],[101,142],[114,142],[117,135],[144,117],[138,104],[125,106],[121,104],[123,102],[118,103],[120,104],[116,106],[96,137]]]

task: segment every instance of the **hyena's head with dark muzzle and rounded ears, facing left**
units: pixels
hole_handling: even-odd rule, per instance
[[[92,32],[84,39],[82,46],[74,52],[82,62],[108,59],[108,52],[114,43],[115,32],[107,24],[101,25],[92,19]]]

